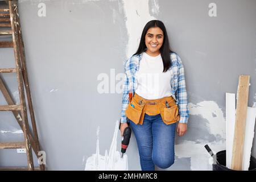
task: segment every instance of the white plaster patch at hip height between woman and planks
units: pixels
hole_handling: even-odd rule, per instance
[[[214,101],[203,101],[199,102],[196,105],[189,103],[189,114],[191,115],[200,115],[204,119],[207,119],[209,123],[208,129],[210,134],[220,135],[222,138],[225,138],[226,126],[225,126],[225,118],[223,111]]]

